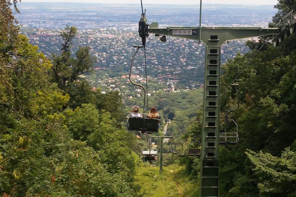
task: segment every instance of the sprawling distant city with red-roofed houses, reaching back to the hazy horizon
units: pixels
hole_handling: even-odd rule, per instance
[[[147,5],[148,23],[159,22],[161,27],[198,26],[199,8],[175,5]],[[19,3],[21,14],[17,16],[21,31],[33,45],[48,58],[60,53],[60,30],[66,25],[76,26],[72,54],[78,46],[89,46],[97,58],[95,73],[84,78],[102,92],[125,91],[130,98],[126,74],[130,66],[133,45],[140,44],[138,21],[139,5],[88,4],[88,3]],[[260,26],[267,27],[276,13],[273,6],[240,6],[205,4],[202,26]],[[258,38],[254,38],[258,39]],[[249,48],[245,40],[225,43],[222,46],[223,63],[245,54]],[[204,80],[204,45],[198,41],[168,38],[160,42],[150,35],[147,43],[147,72],[152,83],[173,84],[178,88],[198,88]],[[144,61],[140,54],[135,62],[135,80],[144,83]],[[123,86],[123,83],[126,85]],[[182,84],[182,85],[181,85]],[[161,87],[163,91],[170,88]],[[155,88],[154,92],[158,89]],[[174,91],[175,91],[174,90]]]

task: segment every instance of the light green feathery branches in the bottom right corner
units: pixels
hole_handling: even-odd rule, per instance
[[[258,188],[260,196],[288,196],[296,195],[296,153],[286,148],[281,157],[274,157],[269,153],[255,153],[247,150],[246,155],[255,165],[255,174],[260,177]]]

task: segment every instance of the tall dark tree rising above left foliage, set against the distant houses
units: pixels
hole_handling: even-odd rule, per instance
[[[93,58],[89,53],[89,47],[79,47],[75,58],[71,57],[70,48],[73,38],[76,37],[75,26],[66,26],[61,32],[62,53],[52,54],[50,75],[52,81],[57,83],[61,90],[70,95],[71,107],[76,108],[82,103],[91,103],[94,99],[93,91],[88,82],[80,79],[79,75],[93,71]],[[83,92],[79,93],[79,92]]]

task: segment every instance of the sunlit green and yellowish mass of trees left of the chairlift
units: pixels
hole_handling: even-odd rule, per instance
[[[118,92],[97,94],[79,78],[93,58],[87,47],[70,57],[75,27],[62,31],[52,66],[18,35],[10,5],[0,12],[0,195],[135,196],[140,159],[118,124]]]

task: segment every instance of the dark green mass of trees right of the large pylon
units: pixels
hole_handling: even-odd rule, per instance
[[[294,6],[291,1],[280,0],[274,20]],[[295,166],[294,152],[287,149],[294,148],[296,139],[291,129],[296,121],[295,41],[292,34],[279,47],[267,46],[236,81],[241,107],[230,118],[237,120],[240,142],[220,148],[223,197],[295,196],[295,171],[289,167]],[[248,46],[258,49],[261,44],[249,42]],[[254,53],[238,54],[223,65],[222,86],[232,82]],[[221,98],[221,108],[233,108],[235,100],[235,91],[228,90]],[[235,125],[229,125],[229,131],[234,129]]]

